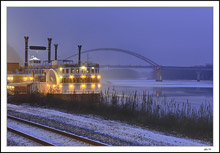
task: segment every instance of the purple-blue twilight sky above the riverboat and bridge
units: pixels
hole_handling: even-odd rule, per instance
[[[8,60],[15,51],[24,63],[24,36],[29,45],[58,43],[58,58],[82,50],[120,48],[139,53],[159,65],[193,66],[213,62],[213,8],[211,7],[8,7]],[[29,55],[37,55],[30,51]],[[47,51],[38,57],[47,60]],[[87,55],[82,58],[86,60]],[[100,64],[144,65],[122,53],[90,53]],[[77,57],[73,58],[76,62]],[[145,64],[147,65],[147,64]]]

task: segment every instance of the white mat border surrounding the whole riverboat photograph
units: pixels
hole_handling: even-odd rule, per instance
[[[7,7],[213,7],[213,116],[214,138],[213,147],[7,147],[6,145],[6,63],[7,63]],[[4,152],[203,152],[219,151],[219,2],[218,1],[1,1],[1,147]],[[88,149],[88,150],[87,150]]]

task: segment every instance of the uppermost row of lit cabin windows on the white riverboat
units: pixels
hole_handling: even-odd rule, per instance
[[[62,73],[80,73],[80,68],[60,68],[60,71],[62,71]],[[81,73],[99,73],[99,69],[90,69],[90,68],[85,68],[85,69],[81,69]]]

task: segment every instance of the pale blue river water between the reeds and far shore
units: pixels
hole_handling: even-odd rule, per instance
[[[196,80],[102,80],[102,90],[132,93],[137,91],[142,95],[146,91],[155,100],[174,99],[177,103],[189,102],[194,107],[202,103],[210,103],[213,106],[213,81],[197,82]]]

